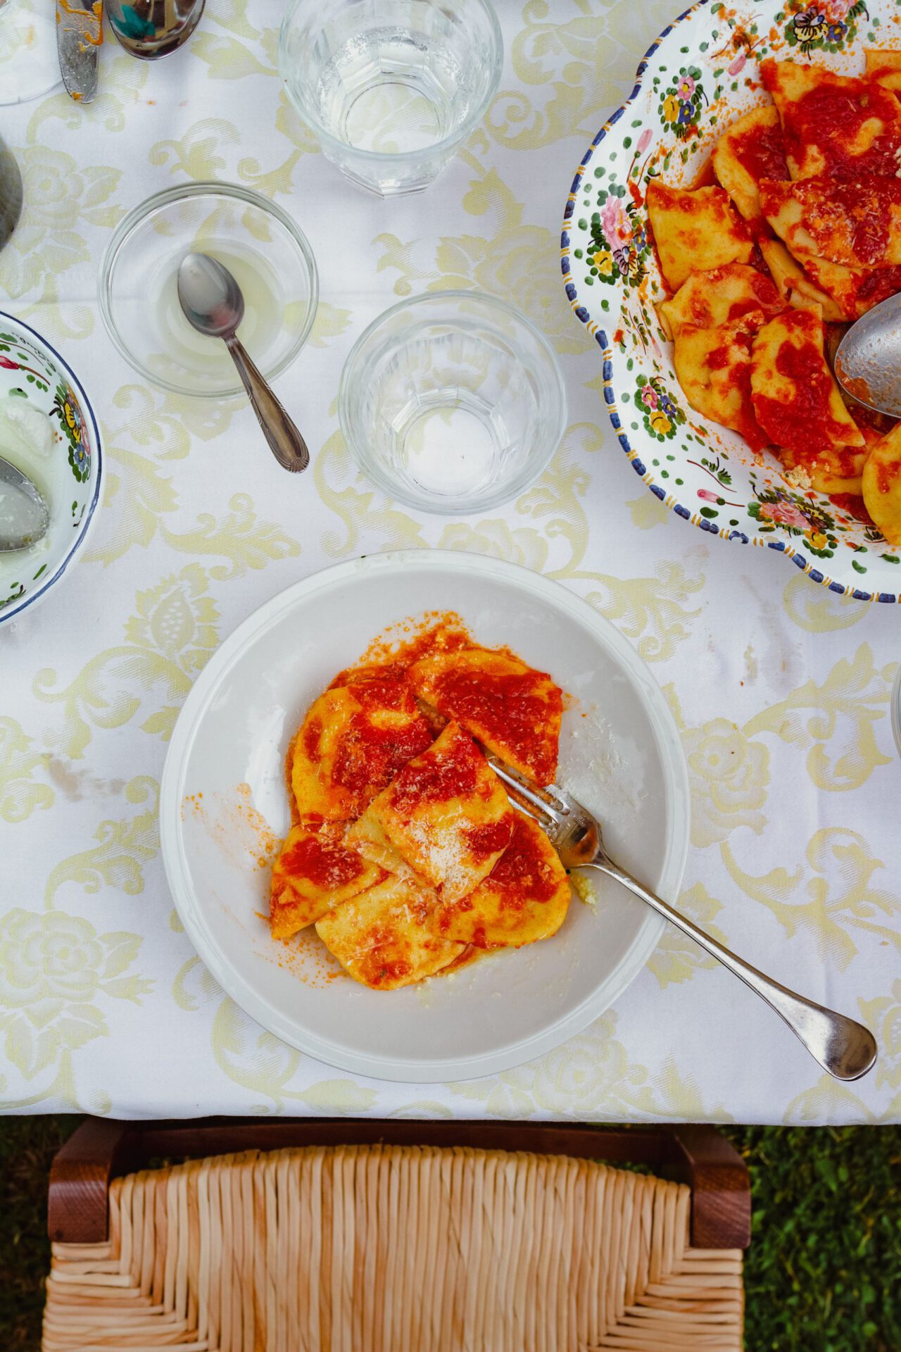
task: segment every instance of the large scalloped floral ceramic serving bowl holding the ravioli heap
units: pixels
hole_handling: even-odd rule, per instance
[[[901,600],[901,550],[852,504],[798,491],[771,454],[689,407],[654,310],[665,297],[648,181],[690,187],[729,122],[765,100],[766,55],[863,72],[865,47],[901,47],[896,0],[700,0],[648,50],[627,101],[589,146],[561,239],[566,295],[604,354],[604,400],[643,483],[693,526],[786,554],[860,600]]]

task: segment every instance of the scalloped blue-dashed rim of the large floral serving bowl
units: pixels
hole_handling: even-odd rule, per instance
[[[635,87],[631,95],[628,96],[628,99],[625,99],[624,103],[619,105],[619,108],[615,112],[611,114],[611,116],[607,119],[598,134],[594,137],[594,141],[592,141],[590,146],[582,155],[581,164],[575,170],[575,177],[573,178],[569,191],[566,208],[563,211],[563,228],[561,231],[561,272],[563,274],[563,287],[566,289],[566,299],[569,300],[570,310],[573,311],[575,318],[585,324],[590,335],[594,338],[594,342],[601,349],[604,357],[601,368],[601,376],[604,380],[604,403],[607,404],[607,411],[611,423],[613,425],[613,431],[616,433],[619,443],[625,452],[632,465],[632,469],[635,470],[636,475],[640,476],[642,483],[647,488],[650,488],[654,496],[658,498],[665,507],[669,507],[670,511],[674,511],[677,516],[681,516],[684,521],[690,522],[700,530],[705,530],[711,535],[719,535],[720,539],[738,541],[740,545],[752,544],[765,549],[775,549],[778,553],[785,554],[788,558],[790,558],[792,562],[797,568],[800,568],[804,573],[806,573],[812,581],[820,583],[820,585],[823,587],[828,587],[831,592],[836,592],[839,596],[851,596],[854,600],[882,602],[887,604],[892,604],[894,602],[901,603],[901,594],[870,592],[865,591],[860,587],[851,587],[851,585],[844,585],[843,583],[836,583],[832,577],[827,577],[827,575],[823,573],[819,568],[815,568],[813,562],[806,557],[806,554],[802,554],[800,549],[796,549],[794,545],[790,545],[785,539],[759,539],[759,537],[756,535],[752,538],[750,535],[746,535],[743,530],[727,530],[725,527],[717,529],[713,525],[713,522],[706,521],[706,518],[698,515],[697,512],[689,511],[689,508],[684,507],[682,503],[677,502],[671,493],[667,493],[666,489],[661,488],[659,484],[654,483],[654,476],[651,475],[650,469],[647,469],[643,461],[639,458],[639,453],[634,450],[632,446],[629,446],[629,439],[625,431],[623,430],[620,415],[613,407],[616,403],[616,395],[613,392],[613,349],[611,347],[611,342],[607,337],[605,330],[601,329],[600,324],[597,324],[592,319],[589,311],[578,299],[578,292],[575,289],[575,283],[573,281],[570,269],[570,223],[573,219],[573,214],[575,211],[575,199],[585,170],[592,162],[594,151],[600,146],[601,141],[604,141],[607,132],[615,126],[615,123],[620,120],[620,118],[629,107],[629,104],[638,97],[642,89],[642,80],[644,78],[644,72],[647,70],[648,62],[654,55],[654,53],[657,51],[657,49],[659,47],[659,45],[663,42],[665,38],[670,35],[670,32],[673,32],[677,24],[682,23],[684,19],[690,18],[693,14],[696,14],[696,11],[702,9],[709,3],[711,0],[697,0],[697,4],[693,4],[690,9],[686,9],[684,14],[678,15],[678,18],[674,19],[673,23],[667,24],[666,28],[663,28],[663,32],[661,32],[654,39],[651,46],[642,57],[639,68],[635,72]]]

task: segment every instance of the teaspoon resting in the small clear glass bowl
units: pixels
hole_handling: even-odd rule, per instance
[[[185,254],[178,268],[178,300],[185,318],[197,333],[222,338],[228,347],[263,437],[282,469],[292,473],[305,469],[309,464],[307,442],[235,333],[244,318],[244,297],[228,269],[209,254]]]

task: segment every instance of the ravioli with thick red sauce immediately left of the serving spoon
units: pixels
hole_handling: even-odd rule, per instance
[[[777,315],[754,339],[751,403],[777,446],[805,454],[810,446],[863,445],[823,352],[823,319],[812,310]]]

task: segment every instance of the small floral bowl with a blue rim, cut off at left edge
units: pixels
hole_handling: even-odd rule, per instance
[[[31,549],[0,554],[0,625],[46,596],[72,569],[101,481],[100,430],[81,384],[34,329],[0,311],[0,404],[9,399],[27,400],[51,422],[49,452],[20,466],[50,503],[50,529]],[[12,452],[9,458],[18,462]]]

